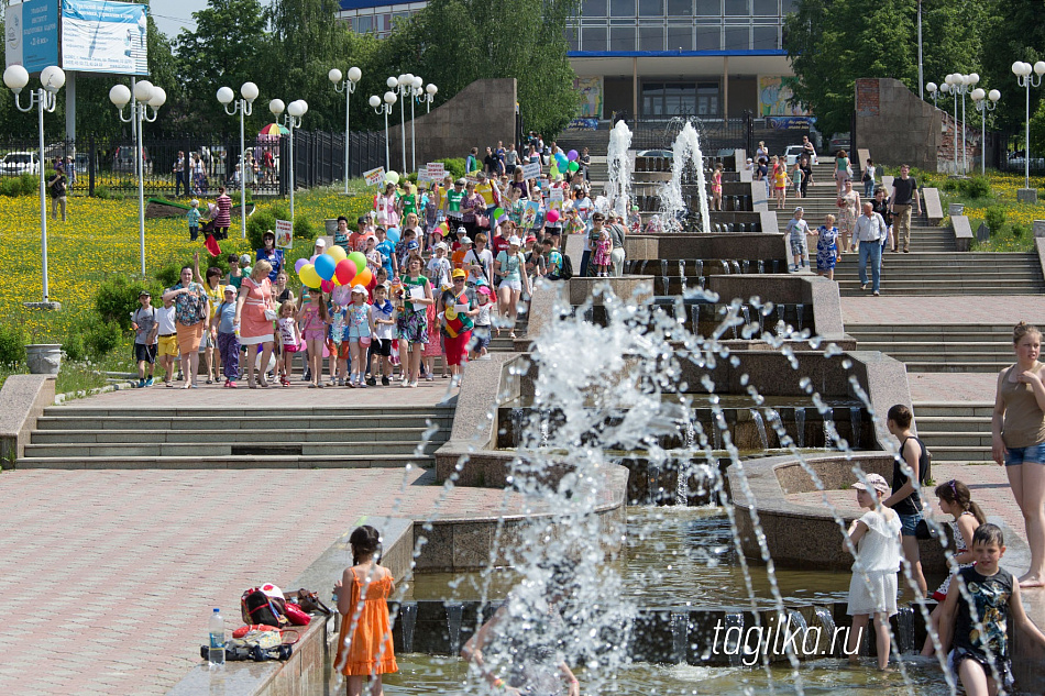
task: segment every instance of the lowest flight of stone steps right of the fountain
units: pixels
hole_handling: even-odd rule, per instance
[[[915,402],[919,437],[925,442],[934,462],[985,462],[993,466],[993,409],[991,402]]]

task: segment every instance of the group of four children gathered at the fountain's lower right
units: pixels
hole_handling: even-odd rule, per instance
[[[908,540],[917,543],[916,528],[911,522],[922,520],[921,505],[919,515],[906,515],[909,510],[900,504],[909,500],[910,496],[902,496],[913,489],[912,480],[924,479],[925,472],[919,471],[919,462],[927,463],[927,451],[911,431],[910,409],[894,406],[887,418],[889,431],[901,441],[892,486],[879,474],[864,474],[853,484],[857,504],[865,512],[849,526],[843,543],[856,559],[849,584],[847,614],[853,617],[853,629],[847,637],[846,654],[853,662],[858,660],[864,631],[873,620],[881,670],[889,663],[889,617],[898,614],[901,566],[906,568],[916,594],[926,594],[921,567],[916,561],[910,562],[906,549]],[[914,466],[910,467],[908,462],[914,462]],[[999,565],[1005,553],[1002,530],[987,522],[972,501],[969,487],[952,479],[936,486],[934,493],[941,512],[952,518],[947,526],[954,546],[948,550],[950,574],[931,595],[938,605],[931,615],[932,627],[922,655],[931,656],[938,648],[948,655],[948,667],[960,678],[967,694],[993,695],[1012,685],[1009,619],[1041,648],[1045,648],[1045,636],[1023,609],[1020,584]],[[916,498],[917,490],[912,495]]]

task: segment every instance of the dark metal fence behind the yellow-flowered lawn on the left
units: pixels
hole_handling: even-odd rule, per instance
[[[344,133],[295,131],[296,186],[308,188],[343,180],[344,145]],[[384,164],[384,133],[352,133],[349,146],[350,178]],[[29,139],[0,142],[0,177],[37,174],[38,150],[38,144]],[[244,157],[245,166],[241,167]],[[246,143],[244,157],[239,137],[148,137],[146,133],[142,147],[145,195],[215,196],[219,186],[239,188],[241,168],[246,187],[255,196],[288,192],[289,167],[284,166],[290,162],[287,135],[258,135]],[[54,168],[59,158],[66,162],[73,191],[91,196],[101,187],[121,194],[138,191],[138,158],[130,139],[88,135],[75,142],[53,141],[44,148],[45,170]]]

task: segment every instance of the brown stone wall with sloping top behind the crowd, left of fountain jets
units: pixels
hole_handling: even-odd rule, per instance
[[[497,141],[515,140],[515,78],[475,80],[452,99],[425,113],[424,106],[414,107],[414,136],[417,139],[417,166],[443,157],[464,158],[472,147],[479,147],[480,163],[486,146],[496,146]],[[411,167],[410,106],[407,104],[406,162]],[[393,128],[395,121],[395,128]],[[388,117],[388,147],[392,168],[402,167],[402,131],[399,103],[393,106]],[[482,166],[482,164],[480,165]]]

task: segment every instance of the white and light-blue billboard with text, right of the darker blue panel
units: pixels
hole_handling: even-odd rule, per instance
[[[148,75],[145,12],[146,5],[131,2],[64,0],[62,67]]]

